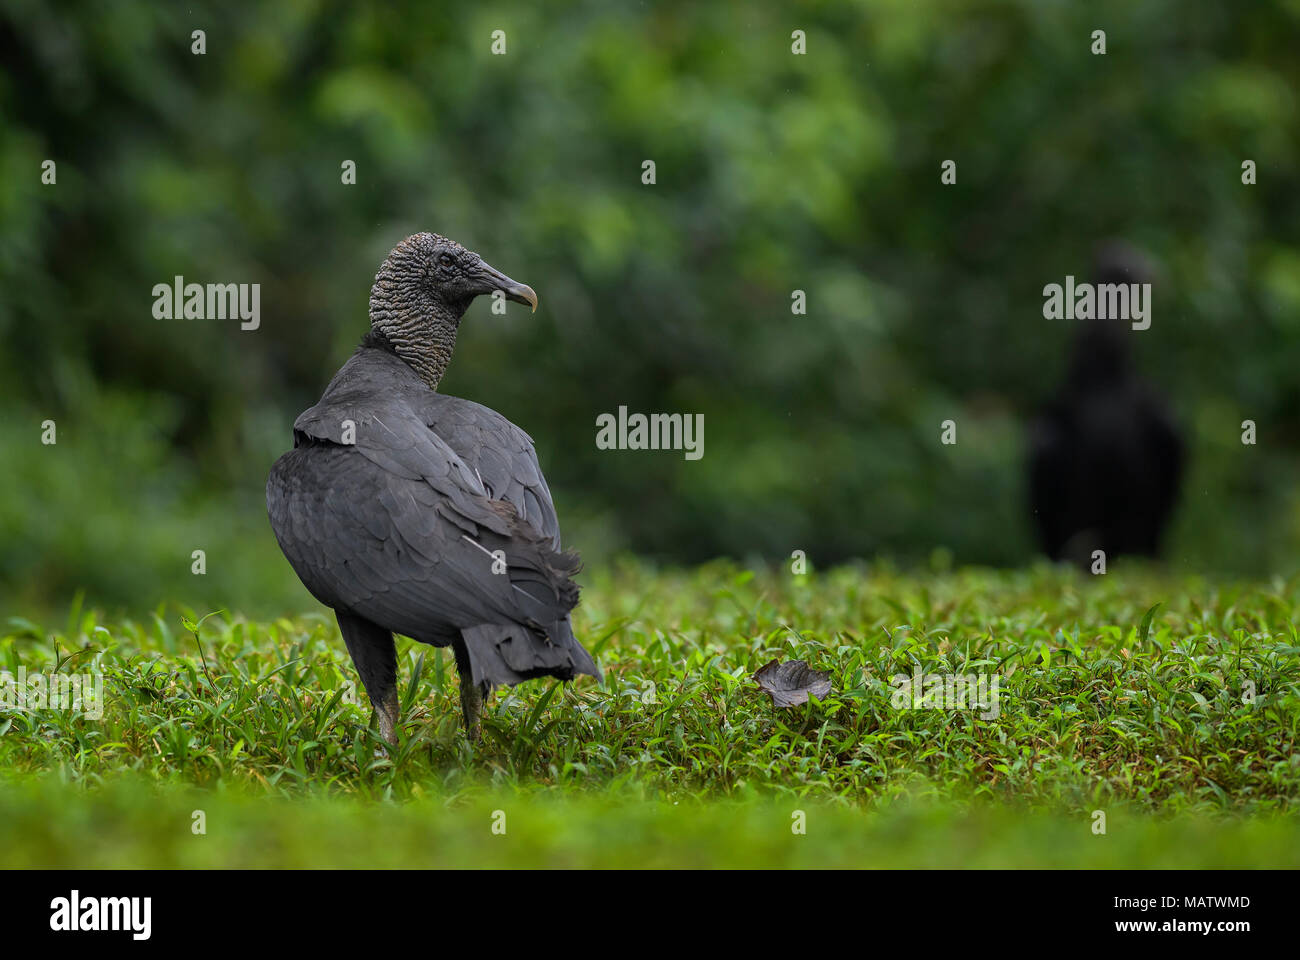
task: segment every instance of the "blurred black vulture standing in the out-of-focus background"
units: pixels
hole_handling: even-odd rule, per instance
[[[1112,243],[1095,284],[1149,284],[1136,250]],[[1150,303],[1147,306],[1150,310]],[[1157,557],[1178,500],[1183,441],[1164,399],[1134,369],[1123,319],[1080,320],[1065,384],[1030,431],[1030,505],[1043,550],[1089,567],[1095,550]]]

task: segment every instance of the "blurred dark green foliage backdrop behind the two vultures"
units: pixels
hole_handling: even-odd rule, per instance
[[[541,295],[477,303],[443,389],[534,436],[589,562],[1027,561],[1023,428],[1071,333],[1041,287],[1123,237],[1160,263],[1135,341],[1191,438],[1171,561],[1294,570],[1297,22],[1297,0],[0,0],[0,593],[309,605],[263,483],[421,229]],[[153,319],[177,274],[260,284],[261,328]],[[597,450],[620,405],[703,414],[703,459]]]

